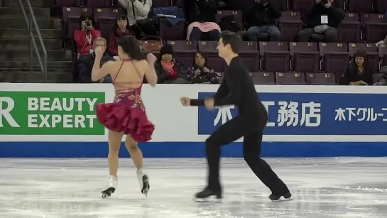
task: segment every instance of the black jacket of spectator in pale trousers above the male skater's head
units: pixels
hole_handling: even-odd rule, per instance
[[[217,0],[185,0],[185,18],[188,23],[214,22],[218,10]]]

